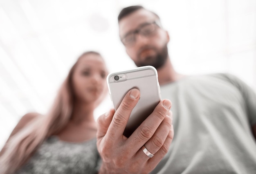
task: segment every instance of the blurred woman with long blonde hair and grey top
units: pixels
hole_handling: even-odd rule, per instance
[[[1,174],[95,173],[99,166],[94,109],[107,92],[101,55],[83,53],[47,115],[23,116],[0,152]]]

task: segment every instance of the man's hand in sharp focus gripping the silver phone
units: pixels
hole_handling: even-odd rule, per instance
[[[159,102],[155,110],[127,138],[123,135],[132,109],[139,100],[139,90],[130,90],[115,112],[101,115],[97,121],[97,148],[102,158],[99,173],[149,173],[168,152],[173,139],[171,101]],[[142,146],[154,154],[148,157]]]

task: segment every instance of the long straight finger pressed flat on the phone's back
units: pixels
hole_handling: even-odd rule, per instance
[[[118,139],[123,136],[124,129],[132,112],[132,109],[139,101],[140,92],[138,89],[131,89],[124,97],[120,106],[115,112],[108,132],[111,134],[111,139]]]

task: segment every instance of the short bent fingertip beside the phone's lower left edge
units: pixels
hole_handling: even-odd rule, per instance
[[[106,112],[97,119],[97,139],[100,139],[105,136],[106,132],[108,131],[108,127],[112,121],[112,118],[114,116],[114,113],[115,110],[110,109],[109,112]]]

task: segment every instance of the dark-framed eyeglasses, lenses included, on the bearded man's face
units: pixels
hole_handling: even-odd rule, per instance
[[[158,27],[160,27],[160,25],[157,24],[156,21],[141,24],[137,29],[128,32],[123,38],[121,38],[121,42],[125,46],[132,46],[136,42],[136,34],[150,37],[155,34]]]

